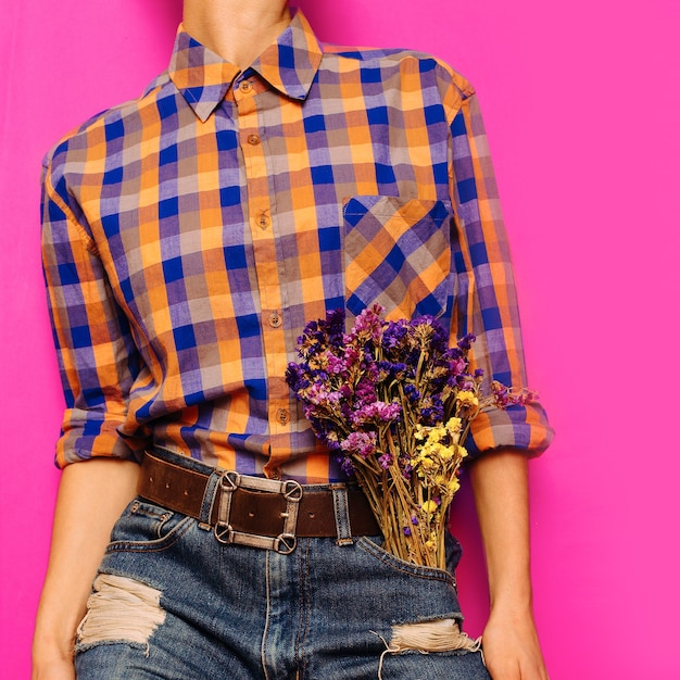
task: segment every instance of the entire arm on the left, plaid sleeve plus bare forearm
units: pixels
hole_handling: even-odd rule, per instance
[[[42,172],[42,265],[66,411],[55,446],[64,470],[36,619],[34,680],[74,678],[76,628],[111,529],[136,495],[135,456],[147,444],[119,435],[143,358],[114,294],[111,253],[96,241],[79,203],[91,179],[78,174],[86,129],[53,147]]]

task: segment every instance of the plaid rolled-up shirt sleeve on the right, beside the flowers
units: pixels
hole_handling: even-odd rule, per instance
[[[456,227],[452,337],[476,336],[471,363],[483,370],[486,394],[491,380],[532,387],[527,385],[515,279],[479,103],[471,88],[458,102],[450,124],[450,190]],[[467,448],[473,456],[500,448],[537,455],[553,435],[538,401],[505,410],[490,406],[473,421]]]

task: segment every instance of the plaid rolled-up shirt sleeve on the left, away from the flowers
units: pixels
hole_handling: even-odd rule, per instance
[[[87,221],[53,159],[42,172],[42,264],[66,401],[55,461],[134,457],[119,433],[139,356]],[[78,215],[78,216],[76,216]]]

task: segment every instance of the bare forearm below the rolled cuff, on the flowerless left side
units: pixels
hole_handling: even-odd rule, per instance
[[[111,529],[137,493],[139,465],[93,458],[62,473],[33,643],[33,680],[73,680],[73,644]]]

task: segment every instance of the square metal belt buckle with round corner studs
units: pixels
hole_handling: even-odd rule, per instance
[[[286,499],[286,511],[281,513],[282,528],[276,537],[259,536],[236,531],[230,522],[231,499],[237,489],[248,489],[264,493],[278,493]],[[295,550],[298,538],[298,509],[302,500],[302,486],[293,479],[279,481],[264,477],[249,477],[234,471],[225,471],[219,479],[217,489],[218,511],[215,524],[215,538],[224,544],[248,545],[272,550],[281,555],[289,555]]]

